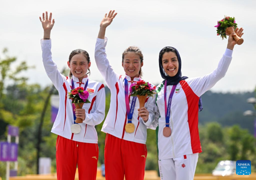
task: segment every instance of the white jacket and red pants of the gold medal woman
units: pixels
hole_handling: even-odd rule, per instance
[[[111,90],[111,103],[108,115],[102,126],[102,131],[107,133],[105,139],[105,174],[106,180],[143,180],[147,149],[147,127],[154,120],[154,97],[148,97],[145,108],[149,112],[148,121],[145,123],[138,116],[139,100],[136,100],[132,123],[135,126],[133,133],[125,131],[128,123],[125,106],[125,78],[128,87],[131,83],[141,80],[140,77],[131,78],[128,75],[116,74],[109,64],[105,47],[105,40],[97,38],[95,47],[95,60],[99,71],[104,77],[108,88]],[[121,63],[121,62],[120,62]],[[129,97],[129,106],[133,97]]]

